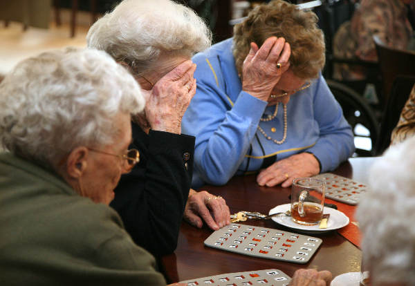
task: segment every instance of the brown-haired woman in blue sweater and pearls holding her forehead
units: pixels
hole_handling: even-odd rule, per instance
[[[351,127],[320,73],[324,52],[317,16],[274,0],[193,57],[196,95],[182,122],[196,137],[193,187],[256,172],[261,186],[288,187],[353,154]]]

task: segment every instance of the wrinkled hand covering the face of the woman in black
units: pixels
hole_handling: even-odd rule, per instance
[[[151,89],[145,104],[145,118],[151,129],[181,133],[182,117],[196,93],[194,70],[196,64],[184,61]]]

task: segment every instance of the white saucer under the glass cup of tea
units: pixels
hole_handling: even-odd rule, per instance
[[[291,209],[291,204],[281,204],[271,209],[270,214],[279,213],[280,211],[288,211],[288,209]],[[326,229],[319,229],[318,225],[300,225],[297,222],[293,222],[293,218],[291,218],[291,216],[275,216],[273,217],[273,220],[279,223],[280,225],[284,225],[285,227],[290,227],[291,229],[300,229],[308,233],[320,233],[324,231],[331,231],[333,229],[340,229],[342,227],[349,225],[349,218],[337,209],[332,209],[331,207],[324,207],[323,213],[330,213],[330,218],[327,222]]]

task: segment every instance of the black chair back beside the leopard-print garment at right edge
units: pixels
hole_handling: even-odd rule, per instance
[[[415,84],[415,76],[397,75],[391,87],[391,93],[382,122],[380,123],[380,133],[376,140],[376,155],[381,155],[389,144],[391,144],[391,133],[398,124],[400,113],[411,93]]]

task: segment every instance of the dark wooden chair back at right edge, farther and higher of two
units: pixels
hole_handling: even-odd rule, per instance
[[[415,53],[410,50],[389,48],[374,36],[380,75],[382,77],[383,107],[387,107],[392,84],[397,75],[415,75]]]

